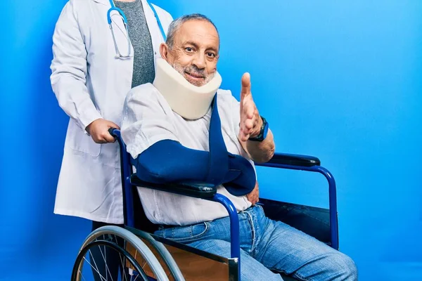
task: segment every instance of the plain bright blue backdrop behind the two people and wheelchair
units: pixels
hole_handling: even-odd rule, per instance
[[[315,155],[333,172],[340,250],[359,280],[422,280],[422,1],[154,3],[214,20],[223,87],[238,97],[250,72],[277,151]],[[49,65],[64,4],[2,8],[0,280],[69,280],[90,230],[53,214],[68,117]],[[260,185],[263,197],[328,203],[316,174],[260,169]]]

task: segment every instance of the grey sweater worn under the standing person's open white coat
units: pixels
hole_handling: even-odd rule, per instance
[[[132,88],[148,82],[152,83],[155,77],[154,50],[141,0],[115,1],[115,6],[126,14],[129,38],[134,46]]]

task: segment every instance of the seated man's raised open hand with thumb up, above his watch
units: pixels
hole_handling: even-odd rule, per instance
[[[242,77],[241,89],[241,123],[239,140],[248,141],[248,138],[256,137],[260,134],[262,119],[250,92],[250,74],[247,72]]]

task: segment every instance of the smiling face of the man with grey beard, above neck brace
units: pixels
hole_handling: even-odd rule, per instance
[[[172,48],[161,46],[162,58],[195,86],[207,84],[217,71],[219,37],[206,20],[188,20],[174,34]]]

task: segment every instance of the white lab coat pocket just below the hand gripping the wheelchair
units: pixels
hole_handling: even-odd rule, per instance
[[[70,120],[67,139],[72,150],[84,152],[94,157],[100,155],[101,144],[95,143],[91,136],[84,133],[73,120]]]

